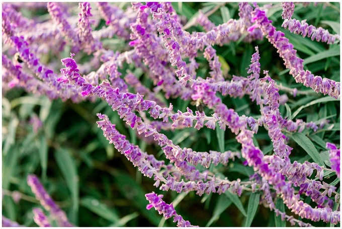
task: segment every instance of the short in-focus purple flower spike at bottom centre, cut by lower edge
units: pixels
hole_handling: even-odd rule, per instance
[[[189,221],[184,220],[181,215],[176,213],[176,210],[172,203],[167,204],[161,199],[163,195],[157,195],[154,192],[151,192],[145,194],[145,197],[150,203],[146,206],[148,210],[154,207],[159,212],[159,214],[163,214],[165,219],[174,217],[174,222],[177,221],[177,226],[179,227],[193,227],[193,225],[191,225]]]

